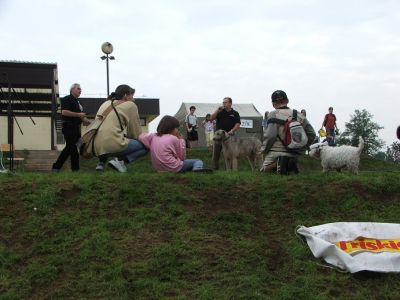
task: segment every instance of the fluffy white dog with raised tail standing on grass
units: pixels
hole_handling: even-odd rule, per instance
[[[364,148],[364,140],[360,137],[358,147],[339,146],[331,147],[328,143],[311,145],[309,155],[321,159],[322,171],[337,170],[346,168],[354,174],[358,174],[360,155]]]

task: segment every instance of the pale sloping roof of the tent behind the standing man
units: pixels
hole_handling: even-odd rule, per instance
[[[205,117],[206,114],[212,114],[219,106],[221,106],[221,103],[183,102],[180,110],[184,108],[186,109],[186,112],[189,113],[189,108],[191,106],[196,107],[195,115],[199,118],[202,118]],[[262,115],[253,104],[233,103],[232,108],[239,113],[240,117],[262,118]]]

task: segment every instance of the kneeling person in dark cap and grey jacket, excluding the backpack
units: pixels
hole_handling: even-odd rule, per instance
[[[297,157],[303,154],[304,151],[289,150],[283,145],[284,125],[281,124],[282,122],[276,122],[276,119],[282,120],[283,122],[290,119],[293,116],[293,109],[287,106],[289,99],[282,90],[273,92],[271,99],[272,106],[275,110],[268,114],[268,126],[264,131],[261,152],[265,154],[265,157],[261,171],[278,171],[280,174],[287,174],[290,171],[298,173]],[[297,120],[306,132],[308,147],[315,139],[315,130],[302,114],[297,114]]]

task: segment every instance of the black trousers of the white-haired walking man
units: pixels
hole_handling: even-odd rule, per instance
[[[81,137],[80,125],[67,125],[62,129],[65,138],[65,148],[61,151],[53,169],[61,169],[68,157],[71,157],[71,170],[79,170],[79,152],[76,143]]]

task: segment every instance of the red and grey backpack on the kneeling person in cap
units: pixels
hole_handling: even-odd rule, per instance
[[[292,117],[285,121],[273,118],[269,119],[268,123],[283,125],[283,138],[279,134],[278,138],[288,150],[300,150],[307,145],[308,137],[303,126],[297,120],[297,110],[293,109]]]

